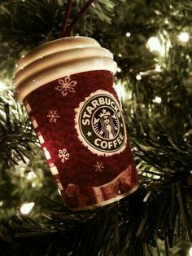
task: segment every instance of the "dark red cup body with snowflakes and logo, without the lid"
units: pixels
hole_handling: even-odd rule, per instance
[[[30,92],[24,105],[66,205],[107,205],[138,187],[113,74],[60,77]]]

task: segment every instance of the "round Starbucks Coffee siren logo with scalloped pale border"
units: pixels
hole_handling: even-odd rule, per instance
[[[111,156],[126,148],[124,119],[111,93],[97,90],[75,111],[78,137],[91,152]]]

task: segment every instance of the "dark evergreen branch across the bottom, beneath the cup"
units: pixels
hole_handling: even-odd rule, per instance
[[[53,255],[62,252],[61,255],[139,256],[144,251],[152,254],[151,245],[158,254],[159,237],[166,243],[168,254],[178,222],[184,225],[186,234],[192,231],[189,219],[192,197],[185,183],[161,186],[144,200],[146,192],[141,188],[119,202],[85,212],[72,212],[55,203],[56,208],[42,224],[17,212],[9,223],[1,224],[2,252],[7,249],[8,240],[14,245],[10,252],[18,255],[24,250],[31,255],[47,255],[51,251]],[[185,194],[190,196],[190,201],[185,201]]]

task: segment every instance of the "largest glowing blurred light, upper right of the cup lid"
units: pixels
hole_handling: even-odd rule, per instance
[[[171,46],[171,42],[168,40],[159,40],[159,38],[151,37],[148,39],[146,46],[149,47],[150,51],[159,52],[160,55],[165,55]]]

